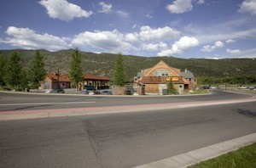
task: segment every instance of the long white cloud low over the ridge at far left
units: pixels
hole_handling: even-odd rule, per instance
[[[61,38],[58,36],[44,33],[40,35],[28,28],[17,28],[9,26],[6,33],[11,36],[2,40],[12,46],[26,49],[48,49],[50,51],[67,49],[69,47],[67,41],[69,38]]]

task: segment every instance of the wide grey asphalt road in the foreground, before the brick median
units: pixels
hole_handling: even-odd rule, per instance
[[[1,121],[0,167],[132,167],[255,131],[255,102]]]

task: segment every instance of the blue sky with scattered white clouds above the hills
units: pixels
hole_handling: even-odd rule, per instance
[[[256,58],[256,0],[1,0],[0,49]]]

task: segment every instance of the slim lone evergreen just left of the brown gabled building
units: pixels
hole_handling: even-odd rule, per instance
[[[119,53],[115,59],[113,82],[118,87],[125,85],[125,66],[121,53]]]

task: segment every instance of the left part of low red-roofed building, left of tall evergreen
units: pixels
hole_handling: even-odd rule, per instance
[[[71,80],[66,75],[60,75],[56,73],[47,74],[45,76],[45,80],[41,82],[41,89],[56,89],[58,88],[58,84],[60,88],[70,88]]]

